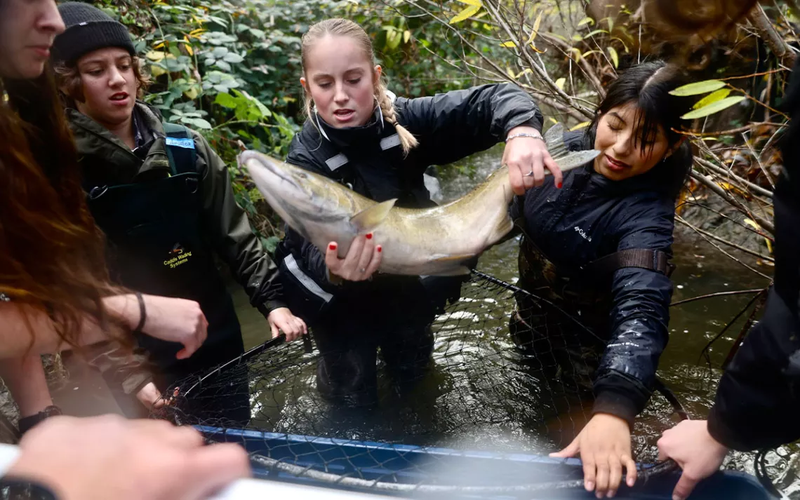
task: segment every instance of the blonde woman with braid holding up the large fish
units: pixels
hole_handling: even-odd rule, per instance
[[[302,86],[308,119],[287,162],[396,206],[433,206],[423,182],[427,166],[457,161],[506,140],[514,190],[544,181],[545,166],[561,182],[539,130],[542,115],[516,86],[486,85],[432,98],[394,98],[381,82],[365,31],[346,19],[311,26],[302,40]],[[525,175],[527,174],[527,175]],[[386,368],[405,386],[430,362],[430,323],[463,277],[374,274],[381,250],[359,236],[345,258],[338,243],[326,254],[294,230],[278,246],[287,302],[311,327],[320,351],[318,390],[353,406],[377,402],[378,347]]]

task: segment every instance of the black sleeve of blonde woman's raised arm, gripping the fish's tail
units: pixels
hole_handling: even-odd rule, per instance
[[[506,140],[515,126],[542,130],[542,113],[518,86],[494,84],[395,102],[399,121],[414,134],[418,164],[444,165]]]

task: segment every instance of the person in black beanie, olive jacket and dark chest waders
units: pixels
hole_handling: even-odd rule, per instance
[[[193,299],[209,324],[205,344],[189,359],[176,359],[174,343],[138,339],[158,367],[155,383],[138,393],[151,406],[175,382],[244,352],[214,254],[267,318],[273,337],[282,330],[292,340],[306,325],[282,301],[278,269],[235,201],[222,159],[200,134],[162,123],[158,110],[136,100],[146,81],[125,26],[85,3],[58,9],[66,30],[55,39],[54,66],[87,203],[109,242],[111,278],[133,290]],[[239,411],[246,420],[249,400],[240,392],[242,401],[225,403],[226,414]],[[115,395],[127,414],[142,410]]]

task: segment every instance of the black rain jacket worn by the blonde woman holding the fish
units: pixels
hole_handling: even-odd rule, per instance
[[[398,122],[418,139],[407,156],[398,136],[380,109],[365,126],[334,129],[321,118],[306,121],[295,135],[287,162],[334,178],[377,202],[398,198],[397,206],[433,206],[422,174],[431,165],[444,165],[486,150],[506,138],[516,126],[542,129],[542,114],[525,91],[509,84],[476,86],[426,98],[396,98]],[[316,125],[316,126],[315,126]],[[319,128],[318,128],[319,127]],[[322,135],[320,133],[322,130]],[[306,321],[337,302],[369,300],[369,282],[330,282],[325,255],[290,228],[278,246],[286,284],[286,302]],[[394,277],[396,282],[402,282]],[[380,277],[376,278],[380,279]],[[406,280],[407,281],[407,280]],[[291,290],[304,290],[292,297]],[[413,289],[413,287],[412,287]]]

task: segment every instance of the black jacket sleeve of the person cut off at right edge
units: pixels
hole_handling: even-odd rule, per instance
[[[775,188],[774,286],[764,315],[719,382],[708,429],[735,450],[772,448],[800,438],[800,58],[786,101],[784,171]]]

